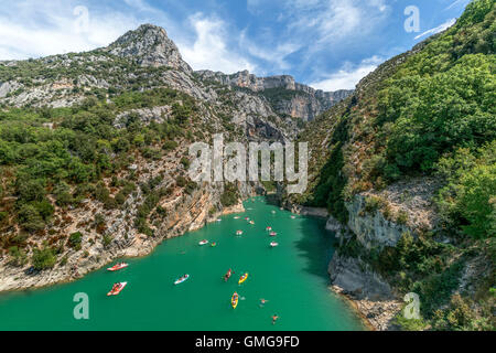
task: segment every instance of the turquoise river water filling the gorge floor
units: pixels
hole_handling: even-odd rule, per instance
[[[150,256],[126,259],[130,266],[121,271],[104,268],[75,282],[0,295],[0,330],[365,330],[328,289],[333,236],[324,221],[294,216],[263,197],[245,207],[246,213],[165,240]],[[278,235],[270,237],[267,226]],[[238,229],[242,236],[236,236]],[[217,246],[200,246],[202,239]],[[279,246],[271,248],[271,242]],[[229,268],[235,275],[225,282]],[[249,277],[238,285],[244,272]],[[183,274],[190,279],[174,286]],[[107,297],[118,281],[128,286]],[[235,291],[240,300],[233,309]],[[89,298],[88,320],[74,318],[78,292]],[[280,318],[274,325],[273,314]]]

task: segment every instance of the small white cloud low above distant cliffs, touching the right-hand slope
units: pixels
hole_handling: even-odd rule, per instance
[[[325,92],[354,89],[356,84],[375,71],[381,62],[384,62],[381,57],[373,56],[362,61],[359,65],[347,63],[339,71],[311,83],[310,86]]]

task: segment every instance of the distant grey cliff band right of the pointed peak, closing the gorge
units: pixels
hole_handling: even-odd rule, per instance
[[[233,75],[198,71],[196,75],[205,83],[216,83],[259,93],[272,105],[277,113],[305,121],[313,120],[353,93],[353,90],[316,90],[296,83],[289,75],[257,77],[248,71]]]

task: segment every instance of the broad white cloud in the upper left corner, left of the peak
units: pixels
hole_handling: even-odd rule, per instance
[[[82,30],[76,6],[64,1],[20,1],[0,10],[0,60],[40,57],[108,45],[139,23],[122,13],[89,11]]]

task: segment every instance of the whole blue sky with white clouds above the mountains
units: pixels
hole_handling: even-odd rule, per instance
[[[163,26],[194,69],[290,74],[315,88],[354,85],[454,22],[470,0],[0,0],[0,60],[105,46]],[[419,10],[407,32],[408,7]],[[411,22],[409,22],[411,23]]]

